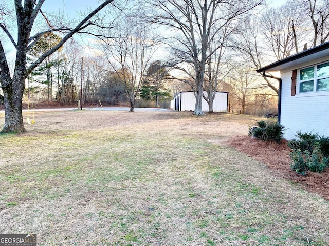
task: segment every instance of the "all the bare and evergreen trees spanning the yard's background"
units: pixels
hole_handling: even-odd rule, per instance
[[[24,132],[26,81],[45,84],[29,88],[45,100],[78,98],[81,53],[76,50],[83,45],[74,34],[93,40],[95,53],[101,54],[83,68],[85,101],[128,101],[134,111],[136,98],[154,99],[159,106],[161,97],[175,92],[169,88],[183,83],[194,91],[195,115],[203,115],[203,98],[212,112],[217,90],[229,91],[230,107],[241,113],[254,105],[273,107],[277,81],[255,70],[329,36],[326,0],[289,0],[279,7],[263,0],[140,0],[124,5],[108,0],[67,23],[43,12],[43,3],[0,5],[2,132]],[[16,51],[13,68],[4,44]]]

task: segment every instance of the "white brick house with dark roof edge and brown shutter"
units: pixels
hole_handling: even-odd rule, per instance
[[[289,56],[257,72],[280,71],[278,120],[284,137],[296,132],[329,136],[329,42]]]

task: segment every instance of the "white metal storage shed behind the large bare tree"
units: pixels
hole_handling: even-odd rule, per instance
[[[208,97],[208,93],[204,91],[204,95]],[[195,109],[196,99],[193,91],[178,92],[173,99],[171,106],[176,111],[193,111]],[[227,112],[228,109],[228,92],[217,91],[213,101],[214,112]],[[209,106],[207,101],[202,99],[202,111],[208,112]]]

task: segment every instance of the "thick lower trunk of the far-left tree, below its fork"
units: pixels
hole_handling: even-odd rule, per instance
[[[11,80],[11,79],[10,79]],[[12,88],[17,88],[13,90]],[[3,88],[5,105],[5,125],[0,133],[25,132],[22,115],[22,98],[25,88],[24,77],[15,76],[8,86]]]

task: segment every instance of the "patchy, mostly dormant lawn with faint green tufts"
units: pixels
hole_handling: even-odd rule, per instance
[[[0,233],[36,233],[38,245],[329,245],[327,201],[226,144],[255,118],[35,117],[28,133],[0,135]]]

